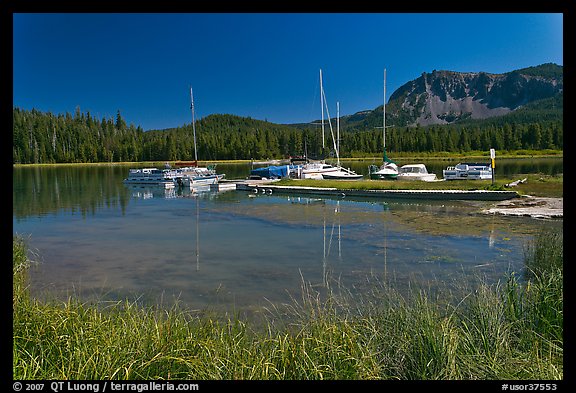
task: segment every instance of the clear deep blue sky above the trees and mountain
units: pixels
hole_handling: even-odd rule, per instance
[[[274,123],[382,105],[423,72],[563,65],[563,14],[13,14],[13,105],[144,130],[214,113]]]

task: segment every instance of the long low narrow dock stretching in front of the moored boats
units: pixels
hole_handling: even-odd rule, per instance
[[[504,201],[518,198],[516,191],[487,191],[487,190],[343,190],[331,187],[301,187],[301,186],[275,186],[269,183],[254,183],[252,181],[239,181],[237,190],[251,191],[266,194],[299,194],[299,195],[330,195],[342,198],[369,197],[369,198],[401,198],[401,199],[439,199],[439,200],[475,200],[475,201]]]

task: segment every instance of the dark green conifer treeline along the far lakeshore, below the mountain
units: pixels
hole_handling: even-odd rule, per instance
[[[517,119],[517,118],[511,118]],[[562,119],[543,117],[529,122],[488,119],[462,125],[392,127],[386,130],[386,150],[394,152],[462,152],[563,149]],[[335,130],[334,130],[335,132]],[[342,130],[340,156],[382,154],[382,129]],[[283,158],[333,151],[330,128],[322,148],[320,127],[294,127],[234,115],[210,115],[196,122],[199,160]],[[13,110],[13,162],[91,163],[174,161],[194,159],[192,125],[144,131],[116,119],[93,117],[79,109],[69,113]]]

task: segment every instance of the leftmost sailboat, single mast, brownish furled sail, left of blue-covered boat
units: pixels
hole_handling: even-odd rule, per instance
[[[209,165],[207,167],[198,166],[198,149],[196,147],[196,118],[194,112],[194,94],[192,93],[192,86],[190,86],[190,111],[192,112],[192,130],[194,134],[194,161],[192,162],[176,162],[179,168],[174,169],[176,173],[176,183],[179,186],[193,187],[203,184],[217,184],[224,178],[224,174],[216,173],[216,166]]]

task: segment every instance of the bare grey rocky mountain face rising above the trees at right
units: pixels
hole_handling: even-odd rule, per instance
[[[434,70],[397,89],[386,106],[386,117],[395,125],[423,126],[485,119],[552,97],[562,89],[562,66],[555,64],[506,74]]]

